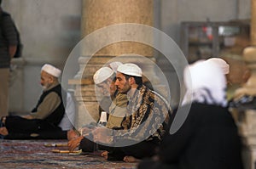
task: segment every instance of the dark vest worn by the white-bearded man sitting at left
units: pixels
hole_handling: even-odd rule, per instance
[[[65,107],[63,104],[63,100],[61,97],[61,91],[62,93],[64,93],[64,100],[66,100],[66,92],[64,92],[61,88],[61,85],[57,85],[56,87],[53,87],[51,89],[49,89],[48,91],[45,91],[44,93],[42,93],[42,95],[40,96],[40,99],[38,100],[38,104],[37,106],[32,110],[32,112],[37,112],[38,111],[38,106],[43,102],[44,98],[52,92],[55,92],[58,94],[58,96],[61,98],[61,104],[50,114],[48,115],[44,120],[48,121],[49,123],[58,126],[59,123],[61,122],[61,119],[65,113]]]

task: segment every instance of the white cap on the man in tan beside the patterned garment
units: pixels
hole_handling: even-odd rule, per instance
[[[109,67],[102,67],[99,70],[96,70],[96,73],[93,76],[93,81],[95,84],[100,84],[101,82],[106,81],[109,77],[113,75],[113,70]]]

